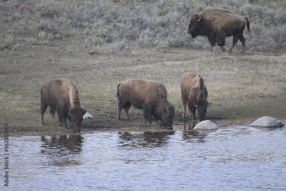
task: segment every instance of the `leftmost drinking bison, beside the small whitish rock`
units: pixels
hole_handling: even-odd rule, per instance
[[[69,79],[57,79],[45,82],[41,88],[41,126],[44,125],[44,113],[47,106],[51,107],[50,114],[57,126],[55,111],[63,127],[67,128],[67,119],[72,121],[75,132],[80,132],[83,116],[86,110],[81,108],[80,94],[76,85]]]

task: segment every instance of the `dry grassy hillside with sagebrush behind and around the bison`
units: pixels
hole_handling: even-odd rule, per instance
[[[54,7],[53,2],[62,3],[63,9]],[[94,18],[97,20],[93,23],[85,20],[88,19],[85,14],[88,13],[78,13],[78,17],[72,15],[75,11],[80,11],[75,6],[78,1],[73,2],[75,4],[70,4],[70,9],[67,10],[64,2],[44,3],[31,0],[26,5],[30,12],[23,17],[17,11],[13,11],[13,8],[17,9],[23,2],[1,2],[6,9],[5,11],[2,9],[4,14],[1,14],[3,19],[0,23],[0,120],[1,124],[9,124],[11,133],[65,132],[63,127],[56,127],[53,124],[48,109],[44,115],[45,126],[39,125],[41,85],[56,78],[72,80],[79,88],[82,107],[95,116],[93,119],[83,121],[84,130],[137,128],[148,131],[158,128],[157,123],[146,124],[142,111],[133,107],[130,109],[132,122],[125,120],[124,112],[121,114],[122,121],[116,120],[117,84],[132,78],[163,83],[168,92],[168,100],[175,106],[174,120],[183,121],[179,82],[185,72],[201,74],[206,82],[208,101],[211,102],[207,112],[208,119],[257,119],[266,115],[285,117],[284,42],[275,42],[275,46],[278,43],[281,43],[281,46],[269,48],[271,45],[260,44],[257,34],[253,33],[252,36],[246,36],[248,49],[244,55],[239,54],[240,42],[232,54],[222,52],[218,46],[212,53],[208,53],[206,38],[192,40],[186,34],[187,19],[177,25],[178,21],[174,21],[176,15],[169,15],[172,6],[167,5],[174,3],[173,1],[166,1],[166,4],[162,4],[161,1],[147,1],[146,4],[142,3],[143,1],[134,1],[132,6],[141,7],[140,14],[144,14],[143,20],[138,18],[137,21],[128,20],[124,17],[126,14],[121,14],[121,9],[125,10],[126,6],[131,6],[124,4],[125,1],[106,1],[105,4],[96,1],[98,6],[97,8],[94,6],[94,10],[105,7],[104,10],[115,11],[112,13],[118,13],[121,19],[120,23],[119,20],[112,20],[119,17],[102,16],[104,22],[110,22],[104,25],[98,25],[103,20],[96,15]],[[240,2],[241,7],[256,6],[260,8],[259,10],[262,8],[264,10],[264,5],[248,5],[245,1]],[[7,6],[8,3],[10,6]],[[77,4],[78,7],[86,6],[88,2],[82,3]],[[120,3],[124,6],[120,6]],[[277,3],[281,4],[280,1]],[[264,4],[268,6],[267,3]],[[283,6],[280,4],[276,10],[280,10]],[[189,17],[198,5],[193,4],[193,7],[188,7],[174,4],[173,7],[177,7],[177,11],[180,10],[176,14],[188,13]],[[37,8],[37,11],[32,12],[34,8]],[[158,11],[159,9],[161,11]],[[132,10],[133,8],[129,7],[128,11],[131,12],[128,13],[134,14]],[[155,12],[156,15],[160,13],[157,19],[152,15]],[[9,15],[11,17],[8,17]],[[38,17],[39,15],[41,17]],[[72,16],[74,19],[69,18]],[[278,16],[277,13],[275,16],[277,29],[281,29],[284,26],[283,14]],[[39,18],[41,19],[36,22]],[[166,25],[165,19],[173,19],[169,22],[177,24]],[[134,22],[132,25],[134,28],[129,22]],[[267,24],[267,22],[265,21],[264,25],[252,22],[252,26],[263,27],[263,31],[269,32],[267,28],[274,23]],[[114,25],[115,23],[117,25]],[[135,30],[136,23],[141,26],[138,31]],[[128,31],[127,34],[123,31],[120,34],[111,31],[111,25],[120,31],[124,29],[123,24],[127,28],[130,27],[128,30],[133,33]],[[154,24],[161,26],[157,32],[156,27],[152,27]],[[164,30],[168,30],[170,34],[167,35]],[[283,31],[280,32],[282,35]],[[181,35],[182,41],[178,41],[176,35]],[[268,38],[270,32],[259,35],[261,39]],[[231,40],[232,38],[228,39],[226,49],[231,46]],[[263,48],[258,49],[259,46]],[[91,51],[95,54],[88,54]],[[189,117],[184,123],[190,120]]]

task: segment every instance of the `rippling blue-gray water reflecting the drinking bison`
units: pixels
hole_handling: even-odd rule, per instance
[[[0,190],[286,189],[285,127],[219,127],[10,136]]]

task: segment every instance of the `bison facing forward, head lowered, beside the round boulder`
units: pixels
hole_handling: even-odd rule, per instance
[[[186,106],[188,106],[189,115],[196,119],[196,109],[198,110],[198,118],[200,121],[206,120],[206,109],[210,106],[206,97],[208,90],[200,74],[188,72],[184,74],[180,80],[182,101],[183,101],[183,117],[186,115]]]

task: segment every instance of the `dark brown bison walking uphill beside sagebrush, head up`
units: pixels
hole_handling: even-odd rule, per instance
[[[191,16],[191,21],[188,27],[188,33],[195,38],[198,35],[206,36],[210,42],[210,49],[215,43],[225,51],[225,37],[233,36],[233,45],[228,53],[231,53],[233,47],[240,40],[242,43],[241,54],[245,52],[245,38],[243,37],[243,30],[247,26],[250,33],[250,23],[247,17],[241,17],[231,11],[225,9],[212,8],[202,11],[202,13],[194,13]]]

